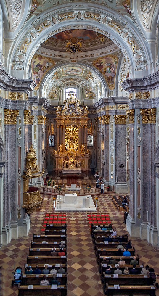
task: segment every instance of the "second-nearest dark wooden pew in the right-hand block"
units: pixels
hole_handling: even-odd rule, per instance
[[[103,272],[103,275],[105,285],[106,283],[108,285],[148,285],[150,279],[150,276],[145,277],[143,274],[118,274],[118,278],[105,274],[105,272]]]

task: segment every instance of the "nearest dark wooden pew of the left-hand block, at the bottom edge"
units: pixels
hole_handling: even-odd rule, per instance
[[[37,286],[33,289],[28,289],[28,286],[19,287],[19,296],[65,296],[67,295],[67,284],[65,286],[57,286],[57,289],[52,289],[51,286]],[[61,289],[63,287],[63,289]]]

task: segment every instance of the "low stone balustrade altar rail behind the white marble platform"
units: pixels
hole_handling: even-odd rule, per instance
[[[40,186],[41,187],[41,193],[45,193],[45,194],[52,194],[52,195],[59,195],[59,190],[55,187],[50,187],[50,186]],[[76,189],[78,191],[80,191],[79,195],[96,195],[96,194],[100,194],[101,190],[100,187],[96,188],[96,187],[91,187],[90,190],[86,189],[86,188],[81,188],[81,189]],[[104,193],[113,193],[114,191],[107,191],[106,187],[104,188]],[[65,193],[68,193],[68,189],[63,189],[60,191],[60,195],[64,195]]]

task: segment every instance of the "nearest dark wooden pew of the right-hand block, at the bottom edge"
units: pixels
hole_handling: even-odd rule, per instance
[[[119,285],[120,289],[115,289],[114,286],[106,284],[107,295],[109,296],[155,296],[154,286],[141,286],[141,285]],[[151,288],[152,287],[152,288]]]

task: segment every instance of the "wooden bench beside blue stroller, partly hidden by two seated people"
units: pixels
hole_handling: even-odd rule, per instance
[[[21,285],[40,285],[40,281],[43,279],[44,274],[23,274]],[[52,274],[47,274],[47,280],[50,282],[52,280]],[[62,277],[58,277],[57,280],[60,282],[61,286],[66,284],[67,274],[62,274]]]

